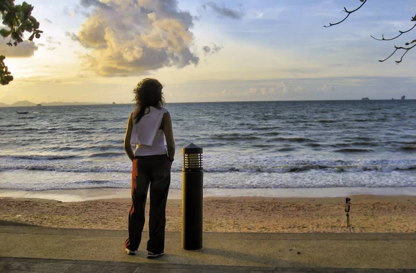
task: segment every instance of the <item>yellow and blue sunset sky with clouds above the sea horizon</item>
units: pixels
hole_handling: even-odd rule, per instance
[[[416,99],[414,0],[26,0],[44,31],[0,44],[15,80],[0,102],[132,103],[142,78],[166,103]],[[16,4],[22,1],[15,1]]]

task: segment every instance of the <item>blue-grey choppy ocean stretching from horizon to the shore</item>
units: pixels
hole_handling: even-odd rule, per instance
[[[130,188],[134,105],[0,108],[0,189]],[[168,103],[180,148],[203,148],[204,187],[416,187],[416,100]],[[18,114],[17,112],[28,112]]]

